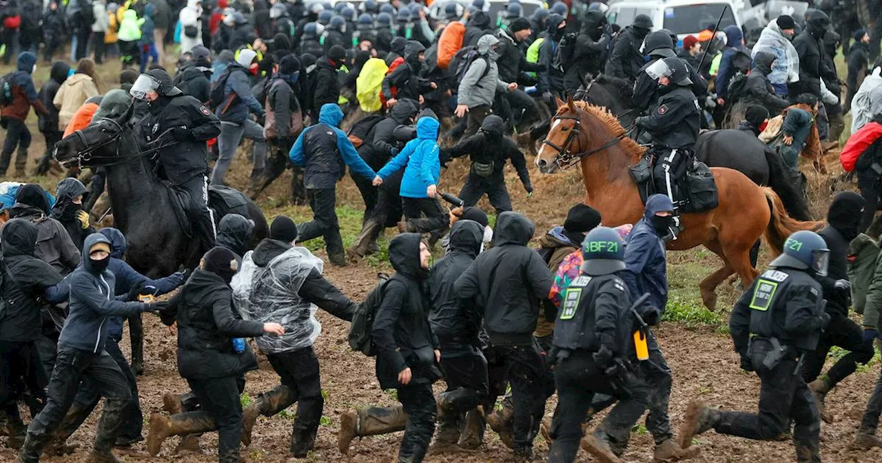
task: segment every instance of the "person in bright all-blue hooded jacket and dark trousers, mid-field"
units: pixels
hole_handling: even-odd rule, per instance
[[[401,179],[401,206],[405,221],[400,231],[430,233],[430,245],[437,243],[448,226],[448,217],[437,200],[437,182],[441,174],[437,119],[421,117],[416,122],[416,138],[407,142],[385,167],[377,172],[374,185],[404,169]],[[425,215],[425,218],[422,218]]]

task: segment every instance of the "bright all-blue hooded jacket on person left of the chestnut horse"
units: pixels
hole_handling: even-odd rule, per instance
[[[441,162],[438,161],[438,127],[436,119],[421,117],[416,122],[416,138],[408,141],[400,153],[377,173],[385,180],[404,168],[401,197],[428,198],[426,189],[429,185],[437,185],[438,175],[441,174]]]

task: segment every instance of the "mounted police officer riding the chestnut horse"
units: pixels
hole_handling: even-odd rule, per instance
[[[671,235],[680,232],[677,210],[676,181],[693,162],[692,146],[699,136],[699,102],[692,93],[689,70],[675,57],[660,59],[644,72],[658,82],[658,100],[647,116],[639,116],[634,123],[646,129],[653,139],[649,155],[654,160],[656,190],[674,203],[674,224]]]

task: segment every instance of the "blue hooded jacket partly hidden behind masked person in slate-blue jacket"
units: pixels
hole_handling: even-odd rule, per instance
[[[98,233],[107,237],[110,241],[110,265],[108,270],[113,273],[114,293],[116,295],[129,295],[129,290],[144,281],[145,287],[156,288],[153,295],[164,295],[175,290],[175,288],[183,285],[183,273],[172,273],[165,278],[152,280],[138,273],[131,268],[126,261],[123,260],[125,248],[128,245],[125,241],[123,232],[116,228],[101,228]],[[114,340],[123,338],[123,317],[111,317],[108,320],[108,334]]]

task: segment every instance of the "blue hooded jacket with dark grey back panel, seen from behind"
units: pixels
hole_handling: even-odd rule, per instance
[[[309,190],[334,187],[343,174],[340,158],[355,174],[368,180],[373,180],[377,175],[355,151],[346,132],[338,127],[342,120],[340,107],[335,103],[325,103],[318,113],[318,123],[300,132],[294,146],[291,146],[288,155],[295,165],[306,167],[303,181]]]

